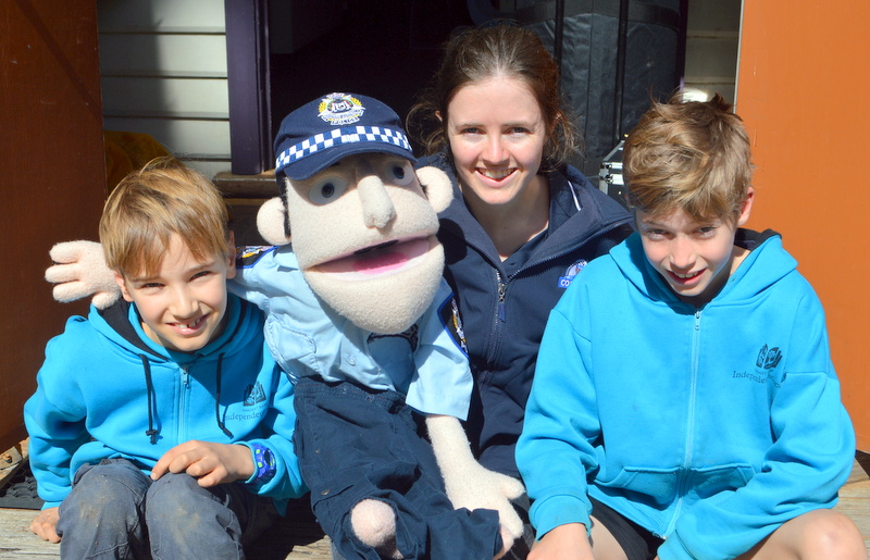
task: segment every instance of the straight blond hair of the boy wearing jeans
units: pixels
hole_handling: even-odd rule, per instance
[[[197,260],[228,258],[227,220],[223,197],[208,178],[172,157],[154,159],[124,177],[105,201],[105,263],[124,276],[157,274],[173,234]]]

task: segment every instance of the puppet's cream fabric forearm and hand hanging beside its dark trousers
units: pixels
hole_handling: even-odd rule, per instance
[[[453,416],[428,416],[426,419],[432,449],[444,476],[447,497],[453,507],[492,509],[498,511],[504,533],[512,539],[523,534],[523,522],[510,500],[525,491],[522,483],[510,476],[489,471],[471,455],[469,439]],[[511,543],[505,543],[510,548]]]

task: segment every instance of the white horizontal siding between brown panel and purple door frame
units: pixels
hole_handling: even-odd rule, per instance
[[[103,127],[150,134],[208,177],[228,171],[223,0],[98,0]]]

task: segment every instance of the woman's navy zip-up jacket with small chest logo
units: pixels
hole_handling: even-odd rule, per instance
[[[631,216],[576,169],[550,172],[546,238],[524,264],[508,273],[467,208],[445,155],[425,158],[420,165],[437,166],[453,182],[453,201],[439,215],[438,239],[474,374],[465,424],[469,440],[481,464],[519,477],[513,449],[547,316],[574,274],[632,233]]]

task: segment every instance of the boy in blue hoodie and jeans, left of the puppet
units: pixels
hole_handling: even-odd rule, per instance
[[[49,341],[25,403],[44,510],[65,558],[244,558],[306,490],[293,385],[256,306],[227,295],[221,194],[172,159],[123,179],[100,221],[123,299]]]

